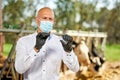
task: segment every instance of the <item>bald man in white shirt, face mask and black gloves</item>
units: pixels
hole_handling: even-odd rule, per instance
[[[37,32],[20,38],[16,45],[15,69],[24,80],[59,80],[61,61],[77,72],[79,63],[72,50],[72,37],[61,38],[50,31],[54,12],[48,7],[38,11]]]

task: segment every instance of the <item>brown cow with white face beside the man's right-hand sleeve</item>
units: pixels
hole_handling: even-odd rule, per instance
[[[82,71],[82,73],[86,73],[86,71],[88,70],[88,66],[91,62],[88,56],[89,48],[85,43],[85,37],[81,37],[79,39],[79,43],[77,43],[76,47],[74,48],[74,51],[78,56],[78,60],[80,63],[80,71]]]

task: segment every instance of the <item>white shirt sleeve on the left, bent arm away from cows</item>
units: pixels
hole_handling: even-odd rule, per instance
[[[33,63],[37,53],[34,49],[27,51],[25,44],[18,41],[16,45],[15,69],[18,73],[26,72]]]

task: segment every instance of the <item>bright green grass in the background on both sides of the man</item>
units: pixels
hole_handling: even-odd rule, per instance
[[[11,44],[4,44],[5,56],[9,54],[11,48]],[[105,57],[108,61],[120,61],[120,44],[106,45]]]

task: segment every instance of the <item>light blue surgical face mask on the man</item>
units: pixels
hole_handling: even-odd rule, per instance
[[[50,21],[41,21],[39,28],[42,32],[49,33],[53,29],[53,23]]]

